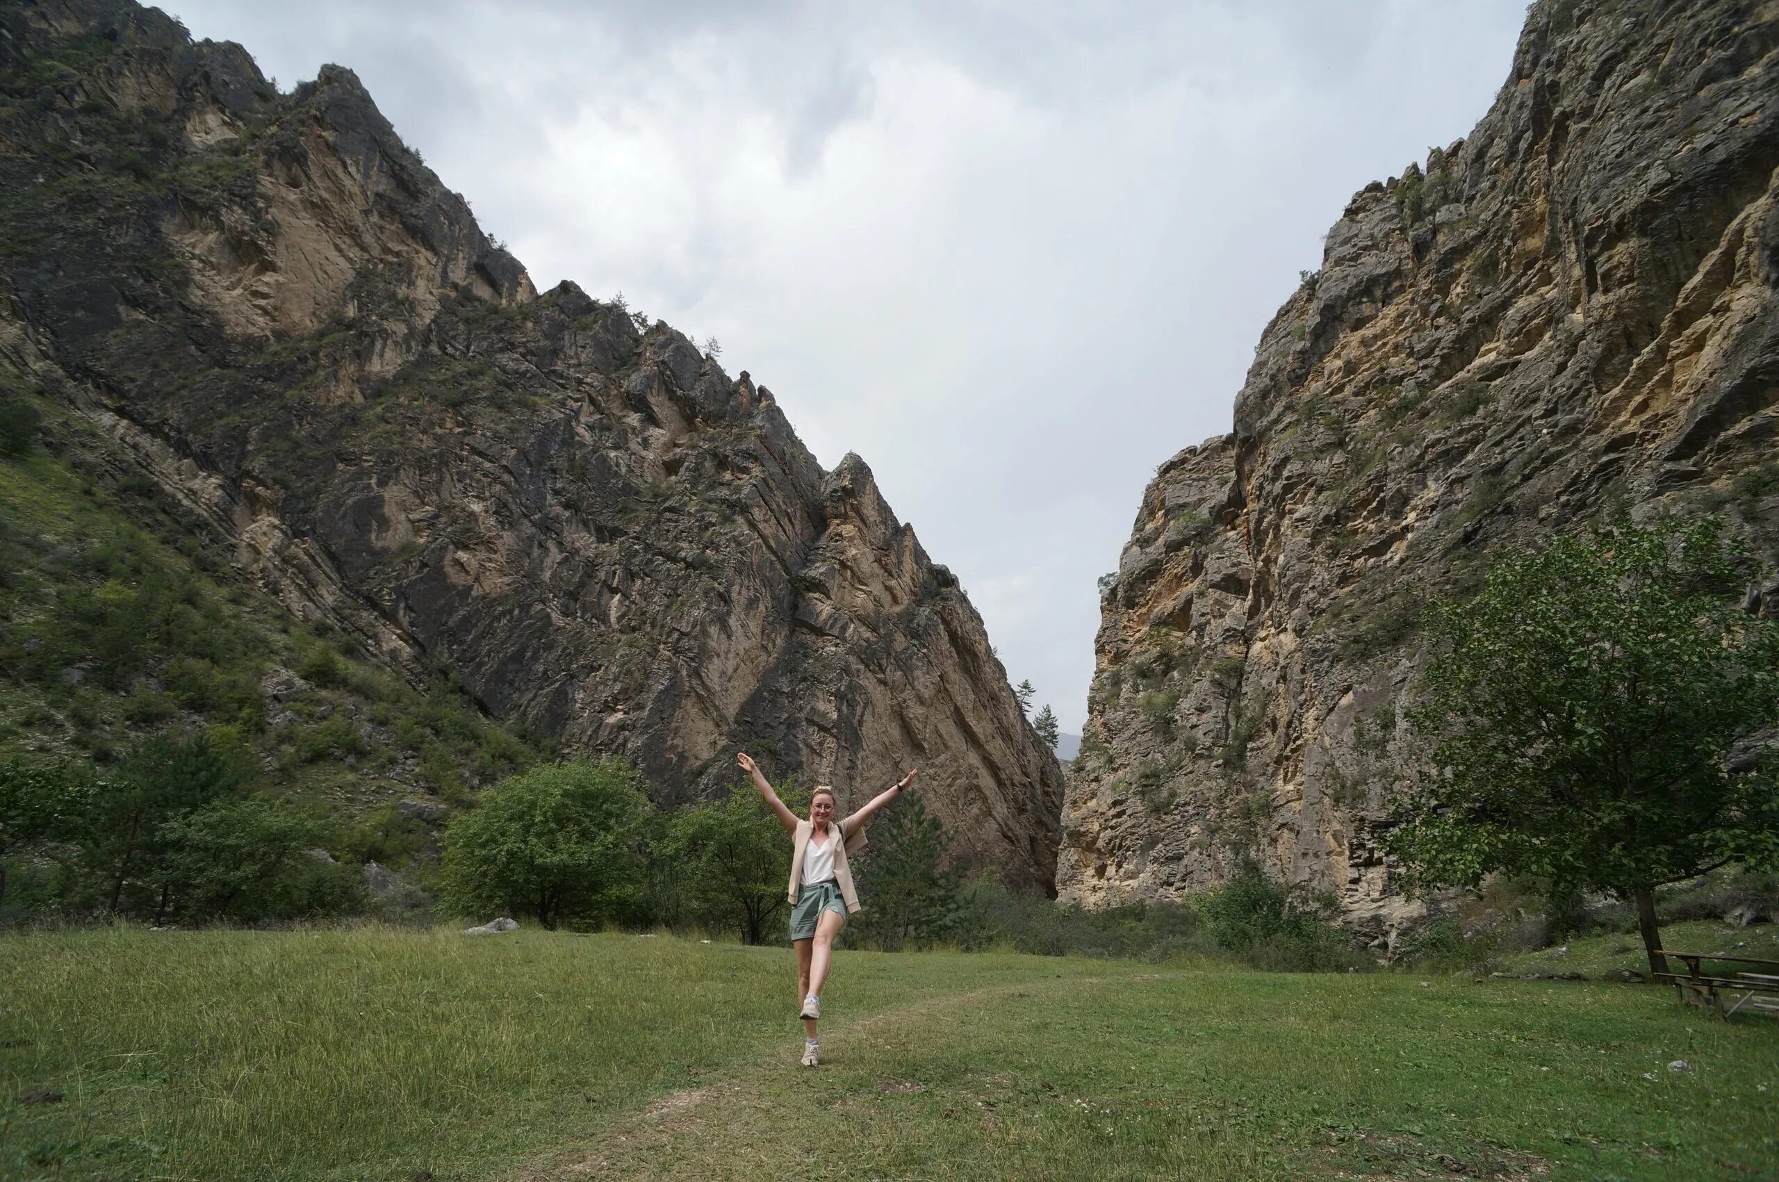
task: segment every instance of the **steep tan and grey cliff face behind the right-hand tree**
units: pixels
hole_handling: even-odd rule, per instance
[[[1233,434],[1144,493],[1064,899],[1254,856],[1388,938],[1414,904],[1375,835],[1427,595],[1603,511],[1715,509],[1779,557],[1775,169],[1779,5],[1533,5],[1489,114],[1354,196]]]

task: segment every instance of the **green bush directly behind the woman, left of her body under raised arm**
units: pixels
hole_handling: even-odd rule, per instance
[[[665,860],[699,922],[765,943],[785,899],[790,838],[751,787],[674,814]]]

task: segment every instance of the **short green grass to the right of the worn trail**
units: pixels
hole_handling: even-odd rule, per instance
[[[1637,986],[1163,970],[829,1024],[516,1177],[1772,1177],[1779,1031]],[[1667,1065],[1685,1057],[1688,1072]],[[811,1148],[820,1152],[811,1155]]]

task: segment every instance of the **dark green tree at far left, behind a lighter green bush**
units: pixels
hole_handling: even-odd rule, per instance
[[[249,767],[237,744],[162,733],[137,744],[116,774],[94,785],[84,862],[103,881],[112,911],[123,908],[132,883],[158,886],[155,908],[165,911],[165,863],[174,849],[169,826],[237,792]]]

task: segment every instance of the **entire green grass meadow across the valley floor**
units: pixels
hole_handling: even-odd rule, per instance
[[[665,936],[12,935],[0,1175],[1779,1170],[1779,1024],[1665,990],[841,952],[804,1072],[788,970]]]

